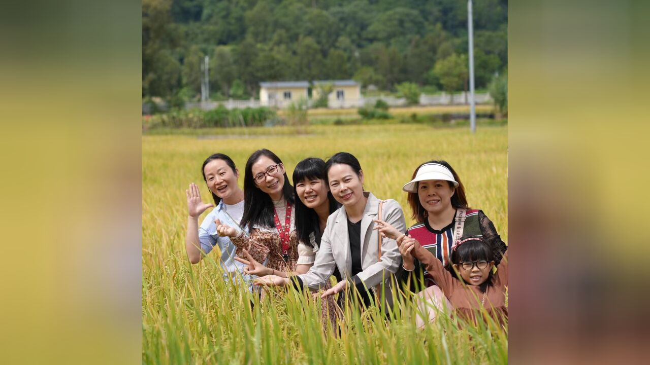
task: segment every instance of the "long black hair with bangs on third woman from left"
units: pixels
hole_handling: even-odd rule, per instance
[[[296,185],[305,179],[320,179],[326,182],[325,161],[317,157],[309,157],[298,162],[296,168],[293,170],[293,191],[296,197],[298,197]],[[329,190],[327,192],[327,198],[329,201],[329,212],[332,214],[340,205]],[[315,210],[307,208],[300,199],[296,199],[296,233],[298,234],[298,239],[302,240],[305,244],[309,244],[309,234],[313,233],[316,238],[316,244],[320,247],[322,232],[320,232],[320,225],[318,224],[318,214],[316,214]]]

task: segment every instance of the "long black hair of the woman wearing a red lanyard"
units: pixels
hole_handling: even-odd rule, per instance
[[[246,225],[249,225],[250,228],[254,225],[274,227],[275,224],[273,222],[273,201],[268,194],[255,185],[255,180],[253,179],[253,164],[262,156],[270,158],[276,164],[282,163],[282,160],[275,153],[265,148],[258,149],[248,157],[248,161],[246,161],[246,172],[244,173],[244,215],[240,222],[241,227],[246,227]],[[285,183],[282,186],[282,195],[284,195],[287,203],[293,205],[293,188],[291,183],[289,183],[286,169],[284,178]]]

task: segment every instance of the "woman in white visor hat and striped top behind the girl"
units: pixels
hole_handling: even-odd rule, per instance
[[[435,286],[433,278],[420,266],[417,258],[411,255],[410,250],[402,249],[401,242],[405,236],[415,238],[454,275],[449,262],[454,242],[468,237],[481,237],[493,249],[495,264],[499,264],[506,251],[506,244],[482,210],[469,208],[463,183],[446,161],[432,160],[421,164],[402,190],[408,192],[413,219],[418,223],[409,228],[406,234],[398,232],[385,222],[380,222],[378,229],[388,237],[396,236],[403,259],[402,268],[414,271],[411,283],[415,284],[411,285],[411,290],[419,292],[422,302],[434,302],[432,304],[440,307],[441,302],[446,299]],[[424,277],[424,283],[417,283],[416,279],[420,277],[420,273]],[[421,290],[422,288],[424,290]],[[428,307],[429,320],[433,320],[435,310],[431,306]],[[417,318],[417,322],[419,327],[424,325],[421,318]]]

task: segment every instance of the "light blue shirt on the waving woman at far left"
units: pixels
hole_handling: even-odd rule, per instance
[[[226,214],[226,210],[226,204],[224,204],[224,201],[222,200],[216,208],[209,212],[203,220],[203,223],[201,223],[201,226],[199,227],[201,249],[203,249],[207,254],[212,251],[212,248],[215,245],[219,245],[219,248],[221,249],[221,257],[218,258],[218,260],[215,259],[215,261],[220,262],[221,267],[224,268],[224,277],[226,277],[226,273],[231,273],[233,278],[242,275],[246,283],[250,284],[250,281],[257,277],[254,275],[244,274],[244,268],[246,265],[234,259],[237,247],[230,241],[229,237],[219,236],[216,233],[216,224],[214,223],[214,220],[217,219],[220,220],[221,223],[237,229],[237,232],[241,231],[239,229],[239,222],[234,221],[228,214]],[[244,229],[244,232],[248,234],[248,229]]]

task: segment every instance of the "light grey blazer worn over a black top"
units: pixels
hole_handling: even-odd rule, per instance
[[[348,236],[348,215],[345,208],[341,207],[327,220],[327,226],[320,239],[320,248],[316,253],[316,259],[309,268],[309,271],[299,275],[302,283],[311,289],[318,289],[324,286],[330,279],[334,268],[344,280],[353,281],[354,284],[363,282],[367,288],[377,284],[389,283],[391,274],[395,274],[402,262],[402,256],[397,248],[397,242],[390,238],[382,239],[382,259],[378,256],[378,231],[372,230],[377,218],[379,199],[370,192],[363,192],[368,197],[363,218],[361,218],[361,268],[363,271],[352,278],[352,255],[350,254],[350,238]],[[382,218],[391,223],[400,232],[406,232],[406,220],[402,207],[393,199],[383,202]]]

